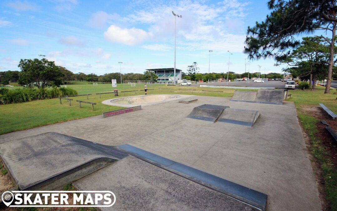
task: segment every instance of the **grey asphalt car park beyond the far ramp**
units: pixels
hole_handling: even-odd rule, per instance
[[[226,86],[227,82],[191,84],[191,86],[200,86],[200,85]],[[275,88],[278,88],[278,89],[284,89],[285,84],[284,84],[284,82],[281,82],[281,81],[266,81],[264,83],[255,83],[255,82],[252,82],[252,81],[249,81],[249,82],[247,82],[247,81],[238,81],[238,82],[228,82],[228,86],[275,87]]]

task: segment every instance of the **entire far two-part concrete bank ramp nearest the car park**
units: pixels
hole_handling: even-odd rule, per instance
[[[256,91],[235,91],[233,102],[266,103],[282,105],[284,90],[258,89]]]

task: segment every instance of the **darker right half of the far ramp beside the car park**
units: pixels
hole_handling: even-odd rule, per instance
[[[257,90],[255,103],[282,105],[283,95],[284,95],[284,90],[259,89]]]

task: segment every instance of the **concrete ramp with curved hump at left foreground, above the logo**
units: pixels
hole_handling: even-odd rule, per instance
[[[127,155],[111,146],[49,132],[1,143],[0,156],[19,190],[52,190]]]

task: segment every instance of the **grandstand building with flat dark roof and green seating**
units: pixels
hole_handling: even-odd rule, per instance
[[[149,71],[153,71],[156,76],[158,76],[158,83],[168,84],[173,83],[174,81],[174,68],[160,68],[160,69],[148,69]],[[181,79],[182,70],[176,69],[176,83],[182,81]]]

